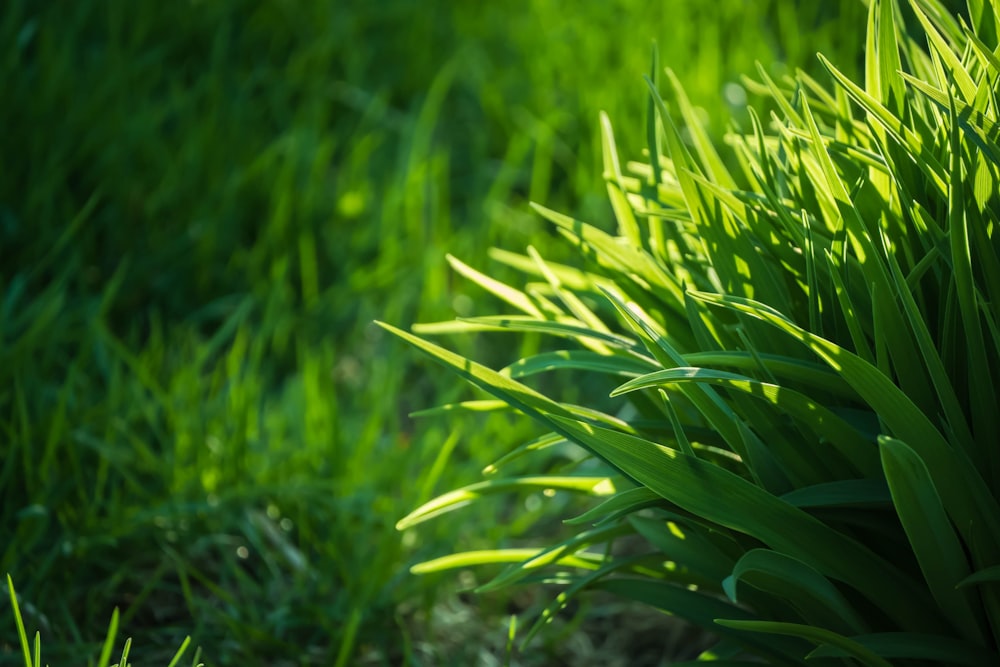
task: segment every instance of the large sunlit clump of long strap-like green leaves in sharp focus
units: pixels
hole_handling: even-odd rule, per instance
[[[399,528],[511,489],[603,501],[557,544],[414,570],[563,587],[527,638],[591,589],[711,630],[703,660],[997,664],[998,34],[992,2],[872,0],[864,83],[761,69],[777,111],[723,152],[669,70],[647,161],[604,118],[617,234],[536,207],[585,268],[494,251],[516,289],[452,260],[518,312],[383,325],[547,431]],[[497,371],[421,337],[479,331],[570,344]],[[500,475],[564,442],[575,470]]]

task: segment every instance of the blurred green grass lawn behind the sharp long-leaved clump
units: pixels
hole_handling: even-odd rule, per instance
[[[471,312],[444,254],[545,246],[529,200],[610,224],[597,113],[638,155],[654,40],[721,137],[755,61],[856,74],[864,16],[6,0],[0,569],[46,661],[95,654],[118,606],[145,664],[187,634],[212,665],[471,664],[483,635],[428,613],[456,584],[407,569],[530,531],[531,505],[394,523],[530,433],[411,421],[467,396],[370,322]],[[502,643],[518,604],[475,609]],[[4,606],[0,662],[13,627]]]

